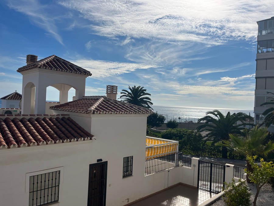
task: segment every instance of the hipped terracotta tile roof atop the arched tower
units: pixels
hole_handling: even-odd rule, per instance
[[[74,74],[83,74],[91,76],[92,74],[88,71],[79,67],[67,60],[64,60],[58,56],[52,55],[37,62],[31,63],[24,67],[21,67],[17,70],[17,72],[21,72],[24,70],[29,70],[33,68],[42,68],[42,69],[49,69],[49,70],[56,70],[56,71],[64,71],[68,73]]]

